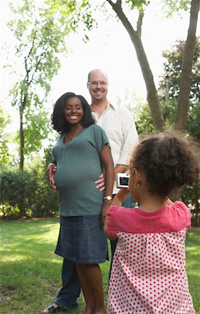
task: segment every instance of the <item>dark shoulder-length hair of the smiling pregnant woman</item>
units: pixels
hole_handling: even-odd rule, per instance
[[[80,103],[83,107],[84,116],[81,120],[81,124],[83,127],[91,126],[91,124],[95,124],[95,120],[92,118],[92,113],[90,109],[90,105],[87,103],[87,100],[81,96],[76,95],[74,93],[68,92],[63,94],[55,103],[54,110],[52,112],[52,126],[58,133],[63,134],[67,133],[69,130],[69,124],[64,119],[64,108],[66,105],[66,100],[69,98],[76,97],[80,99]]]

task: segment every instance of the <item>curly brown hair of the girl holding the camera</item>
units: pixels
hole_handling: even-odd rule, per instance
[[[184,184],[197,184],[199,154],[191,137],[168,130],[142,140],[132,153],[129,167],[145,174],[150,193],[166,196]]]

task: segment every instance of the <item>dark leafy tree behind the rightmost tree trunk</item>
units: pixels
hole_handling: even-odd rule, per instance
[[[197,38],[197,44],[194,50],[194,61],[191,75],[190,101],[187,110],[187,119],[185,129],[199,141],[199,119],[200,119],[200,38]],[[162,100],[166,100],[166,105],[162,103],[164,119],[173,123],[173,117],[176,115],[176,103],[180,94],[181,63],[183,61],[185,42],[178,40],[171,50],[163,52],[166,59],[164,61],[164,74],[159,84],[159,95]],[[167,90],[166,90],[167,89]],[[167,94],[167,96],[166,96]]]

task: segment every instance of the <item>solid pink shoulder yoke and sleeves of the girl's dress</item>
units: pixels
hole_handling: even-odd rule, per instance
[[[118,231],[130,233],[177,232],[190,228],[190,209],[183,202],[165,205],[158,211],[147,213],[138,208],[112,206],[108,221]]]

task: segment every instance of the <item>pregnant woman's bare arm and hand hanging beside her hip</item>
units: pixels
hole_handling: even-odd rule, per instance
[[[103,163],[103,167],[105,169],[105,195],[113,195],[113,183],[114,183],[114,165],[113,158],[110,152],[110,147],[108,145],[104,145],[101,151],[101,162]],[[109,200],[103,200],[103,205],[101,207],[101,225],[104,226],[106,214],[108,208],[110,207],[111,202]]]

